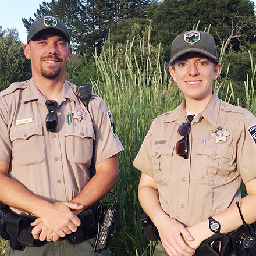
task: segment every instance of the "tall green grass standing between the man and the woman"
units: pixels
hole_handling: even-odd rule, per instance
[[[109,44],[110,45],[110,44]],[[150,45],[145,50],[141,42],[141,55],[134,56],[133,41],[127,42],[125,68],[120,69],[115,61],[112,47],[105,48],[95,56],[98,80],[91,81],[98,94],[111,109],[125,151],[120,154],[120,221],[122,230],[112,240],[113,255],[151,255],[152,244],[145,239],[138,216],[141,213],[137,198],[140,172],[132,166],[140,145],[152,120],[175,108],[183,99],[180,91],[172,87],[165,63],[159,62],[159,52],[155,52],[157,65],[152,69]],[[159,49],[160,50],[160,49]]]

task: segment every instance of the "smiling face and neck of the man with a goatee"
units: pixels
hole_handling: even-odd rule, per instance
[[[65,67],[72,49],[62,33],[45,30],[24,45],[24,54],[31,60],[33,76],[65,79]]]

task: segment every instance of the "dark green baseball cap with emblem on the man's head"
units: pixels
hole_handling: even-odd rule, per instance
[[[37,33],[47,29],[61,31],[61,33],[65,35],[65,37],[67,38],[67,41],[70,42],[70,36],[69,36],[69,31],[67,30],[67,27],[55,17],[45,16],[39,20],[35,20],[35,22],[31,24],[31,27],[29,29],[29,34],[27,35],[27,43],[29,44],[29,41]]]

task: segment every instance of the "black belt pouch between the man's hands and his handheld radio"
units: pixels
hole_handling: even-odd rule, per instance
[[[81,220],[81,225],[77,227],[76,232],[73,232],[67,237],[73,244],[82,243],[97,235],[97,225],[92,209],[85,209],[77,217]]]

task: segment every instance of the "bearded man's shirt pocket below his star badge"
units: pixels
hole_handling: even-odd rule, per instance
[[[89,168],[91,165],[91,155],[93,154],[94,139],[93,126],[87,125],[86,122],[72,122],[70,125],[66,125],[65,145],[66,157],[69,162],[83,164]]]

